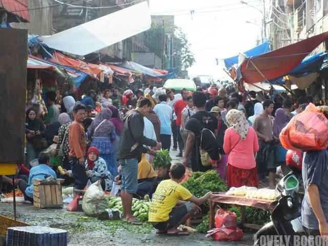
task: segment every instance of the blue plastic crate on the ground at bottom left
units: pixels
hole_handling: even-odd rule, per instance
[[[11,227],[7,246],[67,246],[68,233],[50,227]]]

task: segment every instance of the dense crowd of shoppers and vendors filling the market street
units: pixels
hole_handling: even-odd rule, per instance
[[[278,167],[282,173],[288,172],[279,134],[312,102],[308,97],[293,103],[280,95],[272,101],[269,95],[254,91],[248,97],[238,92],[228,95],[224,87],[216,85],[197,87],[195,92],[152,86],[122,94],[117,89],[90,90],[79,101],[75,88],[70,87],[60,104],[53,91],[45,98],[45,116],[40,117],[35,107],[27,107],[26,162],[19,165],[14,181],[4,176],[3,189],[18,186],[25,199],[33,201],[34,178],[61,177],[78,190],[100,180],[101,187],[110,191],[116,183],[121,185],[123,216],[132,224],[140,223],[131,213],[133,197],[152,198],[160,189],[174,189],[178,196],[170,198],[172,208],[179,198],[190,202],[180,204],[183,212],[171,208],[178,218],[169,221],[171,229],[172,223],[186,220],[209,197],[195,198],[178,185],[188,168],[193,172],[214,169],[229,188],[259,187],[269,179],[270,189],[274,189]],[[170,151],[171,146],[176,156],[182,157],[182,164],[171,167],[167,163],[154,170],[155,151]],[[62,173],[53,167],[55,159],[63,167]],[[166,214],[150,210],[150,221],[159,231],[167,231],[171,210]],[[176,228],[169,232],[181,233]]]

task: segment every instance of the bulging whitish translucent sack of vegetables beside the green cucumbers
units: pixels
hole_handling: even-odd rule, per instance
[[[109,208],[108,198],[100,186],[100,180],[94,182],[86,191],[82,200],[82,209],[87,215],[97,216]]]

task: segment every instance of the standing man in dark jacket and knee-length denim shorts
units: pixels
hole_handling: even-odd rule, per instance
[[[124,126],[118,149],[117,159],[122,168],[121,199],[123,217],[131,224],[141,224],[132,216],[132,198],[138,188],[138,162],[142,153],[154,154],[144,145],[161,148],[159,142],[144,136],[144,116],[151,110],[151,101],[140,97],[135,110],[130,110],[124,118]]]

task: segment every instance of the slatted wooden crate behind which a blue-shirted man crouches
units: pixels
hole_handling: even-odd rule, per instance
[[[60,181],[33,179],[33,206],[40,209],[63,208]]]

